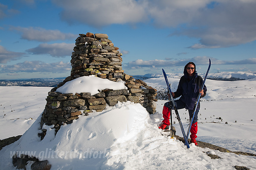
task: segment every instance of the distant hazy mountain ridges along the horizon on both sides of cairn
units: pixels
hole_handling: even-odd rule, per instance
[[[181,73],[166,73],[170,78],[180,78],[183,76]],[[204,77],[204,74],[199,74]],[[146,80],[150,78],[160,78],[163,74],[161,73],[148,73],[145,75],[134,75],[135,79]],[[37,86],[37,87],[56,87],[60,82],[63,82],[65,78],[47,78],[47,79],[20,79],[20,80],[0,80],[0,86]],[[245,79],[256,79],[256,73],[248,72],[218,72],[209,73],[208,79],[222,80],[222,81],[236,81]]]

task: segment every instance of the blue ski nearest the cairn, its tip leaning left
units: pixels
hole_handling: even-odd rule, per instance
[[[170,88],[169,81],[168,81],[168,79],[167,79],[167,76],[166,76],[166,73],[165,73],[164,69],[162,69],[162,70],[163,70],[165,82],[166,82],[166,84],[167,84],[168,92],[169,92],[169,94],[170,94],[171,101],[172,101],[172,103],[173,103],[174,111],[175,111],[175,114],[176,114],[177,119],[178,119],[178,121],[179,121],[180,129],[181,129],[181,132],[182,132],[183,137],[184,137],[184,140],[185,140],[185,145],[187,146],[187,148],[189,148],[189,142],[188,142],[188,140],[187,140],[187,138],[186,138],[186,133],[185,133],[185,131],[184,131],[183,125],[182,125],[181,120],[180,120],[180,115],[179,115],[179,113],[178,113],[178,110],[177,110],[177,108],[176,108],[176,104],[175,104],[174,99],[173,99],[173,95],[172,95],[172,91],[171,91],[171,88]],[[170,114],[171,114],[171,113],[170,113]]]

